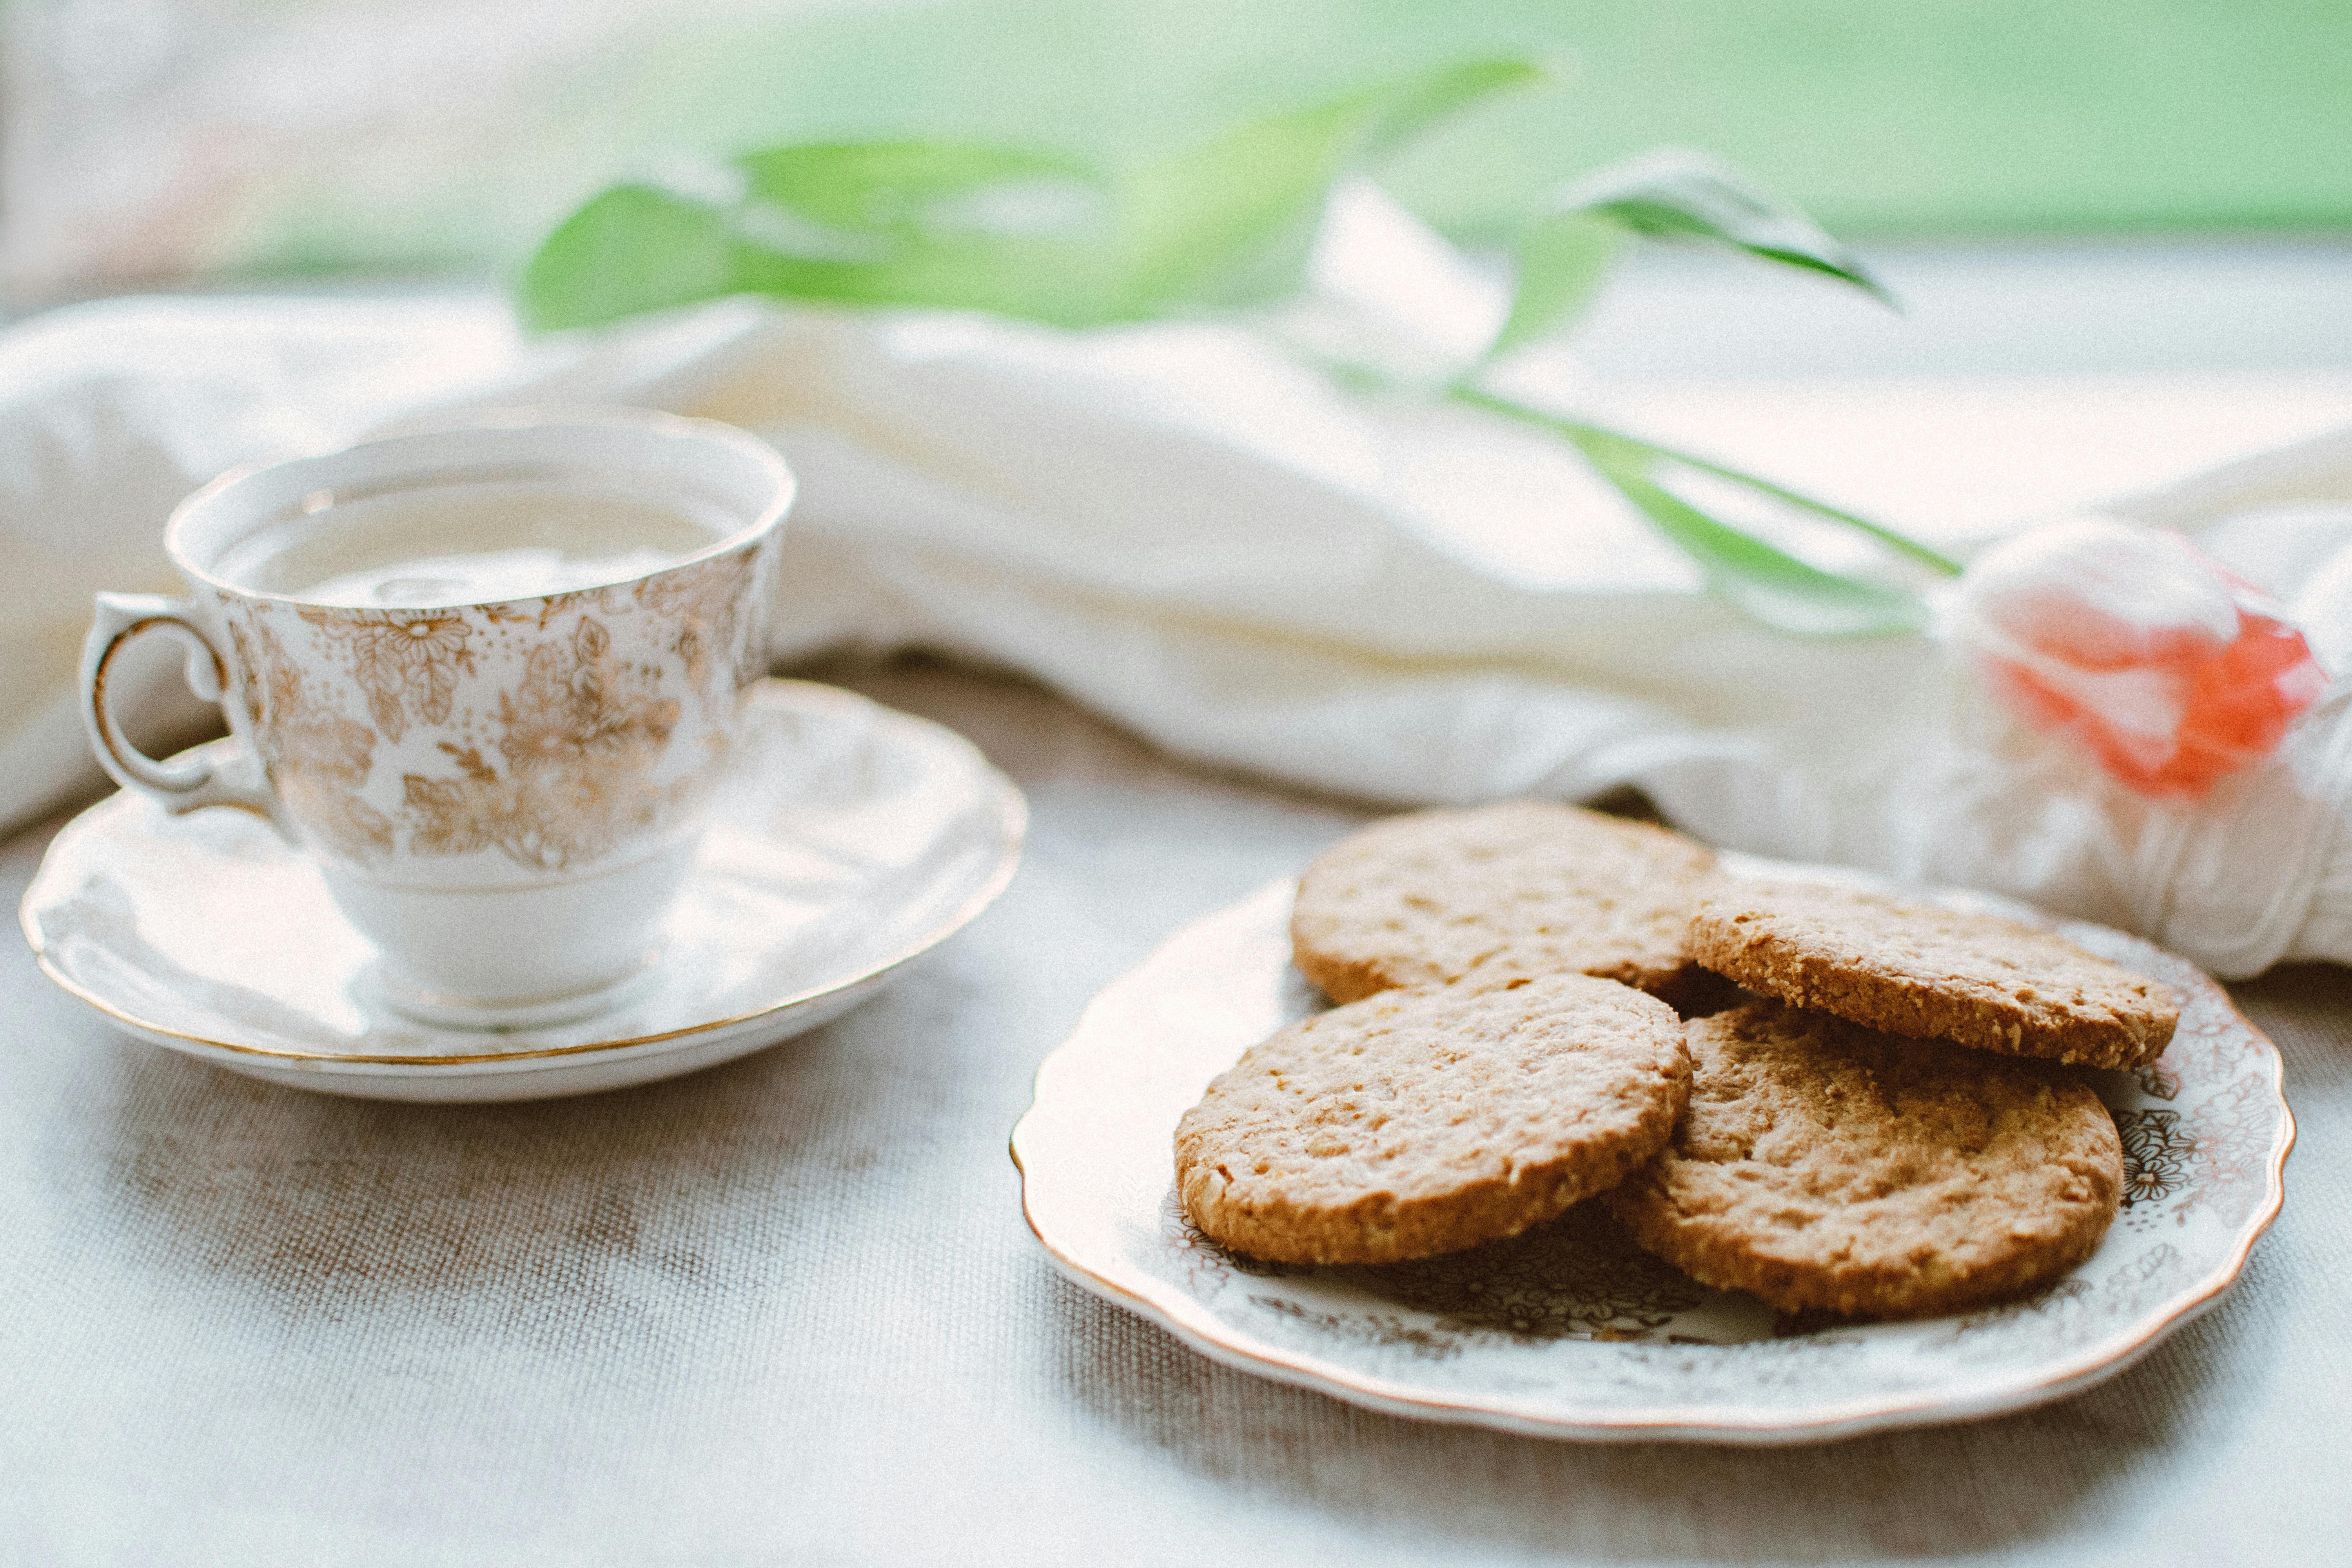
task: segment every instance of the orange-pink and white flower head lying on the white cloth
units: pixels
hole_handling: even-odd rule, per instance
[[[2328,677],[2303,632],[2187,538],[2079,520],[1969,564],[1952,637],[2011,712],[2143,795],[2197,797],[2277,750]]]

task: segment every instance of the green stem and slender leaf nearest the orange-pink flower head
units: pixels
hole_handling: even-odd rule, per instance
[[[1835,522],[1863,527],[1875,538],[1898,543],[1907,552],[1933,550],[1905,541],[1891,529],[1867,524],[1835,508],[1785,491],[1778,484],[1755,480],[1717,463],[1698,463],[1663,447],[1653,447],[1632,435],[1606,430],[1576,418],[1557,418],[1538,409],[1494,397],[1472,388],[1456,388],[1454,397],[1491,414],[1503,414],[1529,425],[1538,425],[1569,440],[1592,470],[1602,475],[1625,501],[1630,501],[1651,527],[1705,574],[1708,588],[1755,616],[1764,625],[1806,637],[1884,637],[1912,632],[1926,625],[1926,604],[1900,588],[1870,583],[1865,578],[1825,571],[1799,559],[1780,545],[1757,538],[1705,510],[1691,505],[1658,482],[1661,470],[1677,465],[1693,468],[1733,484],[1745,484],[1776,501],[1802,505]]]

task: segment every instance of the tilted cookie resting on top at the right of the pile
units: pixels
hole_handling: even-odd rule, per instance
[[[2084,1067],[2143,1067],[2180,1020],[2171,987],[1999,914],[1785,882],[1722,882],[1691,954],[1792,1006],[1889,1034]]]

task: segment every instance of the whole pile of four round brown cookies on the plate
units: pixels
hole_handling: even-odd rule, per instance
[[[1783,1312],[1929,1316],[2082,1262],[2122,1143],[2077,1070],[2152,1063],[2178,1018],[2044,931],[1719,877],[1682,835],[1538,802],[1345,839],[1291,938],[1343,1006],[1185,1112],[1204,1234],[1392,1262],[1606,1194],[1644,1248]]]

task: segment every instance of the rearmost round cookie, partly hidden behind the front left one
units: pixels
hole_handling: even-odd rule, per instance
[[[1334,1001],[1550,973],[1672,994],[1696,971],[1691,900],[1712,870],[1679,832],[1578,806],[1416,811],[1308,865],[1291,954]]]

